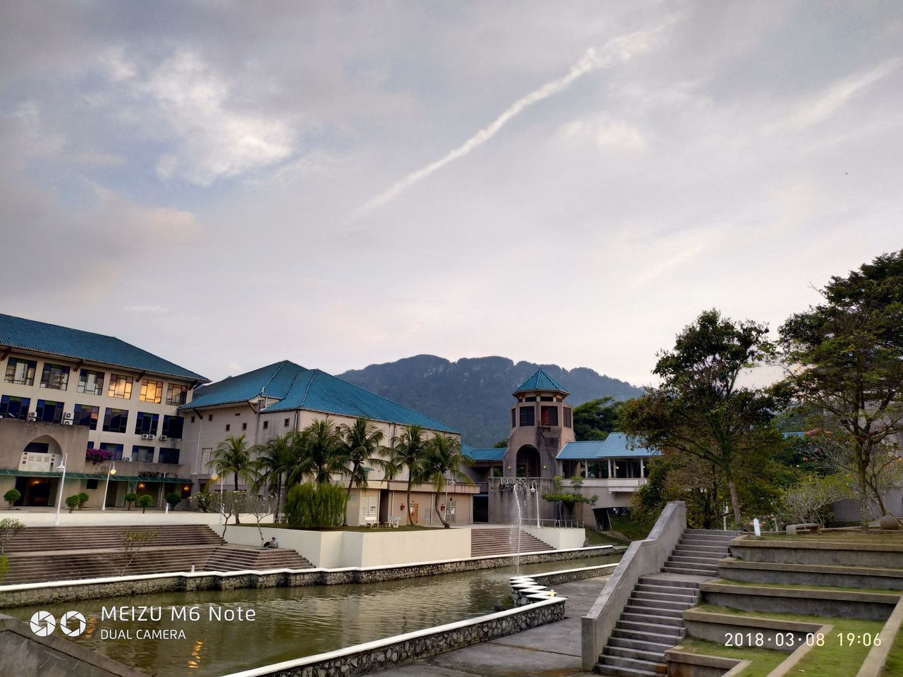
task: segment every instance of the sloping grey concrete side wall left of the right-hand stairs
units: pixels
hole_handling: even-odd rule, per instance
[[[665,506],[645,541],[630,543],[618,569],[606,582],[589,613],[582,617],[583,670],[592,672],[637,581],[661,570],[685,528],[686,505],[683,501],[673,501]]]

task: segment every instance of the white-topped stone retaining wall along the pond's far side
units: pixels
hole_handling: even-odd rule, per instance
[[[520,556],[521,564],[544,561],[585,559],[605,554],[618,554],[608,545],[578,550],[531,552]],[[195,571],[184,573],[123,576],[107,579],[52,581],[0,587],[0,608],[30,607],[99,599],[122,595],[149,595],[158,592],[196,590],[233,590],[245,588],[294,588],[308,585],[345,585],[377,583],[384,580],[411,579],[480,569],[512,566],[516,558],[474,557],[466,560],[424,562],[393,567],[347,569],[280,569],[270,571]]]

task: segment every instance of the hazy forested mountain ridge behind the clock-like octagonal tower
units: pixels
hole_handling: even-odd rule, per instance
[[[472,447],[491,447],[507,438],[508,409],[518,385],[542,368],[570,393],[573,406],[611,395],[627,400],[642,389],[579,366],[517,362],[507,357],[462,357],[452,362],[434,355],[415,355],[395,362],[352,369],[339,377],[425,413],[461,431]]]

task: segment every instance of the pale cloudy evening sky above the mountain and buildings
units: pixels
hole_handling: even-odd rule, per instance
[[[0,312],[654,383],[903,247],[903,5],[5,2]]]

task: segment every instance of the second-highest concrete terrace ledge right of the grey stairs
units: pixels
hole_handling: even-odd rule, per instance
[[[901,562],[903,566],[903,562]],[[718,562],[722,578],[749,583],[798,583],[840,588],[903,588],[903,569],[854,567],[832,564],[786,564],[782,562],[725,559]]]

